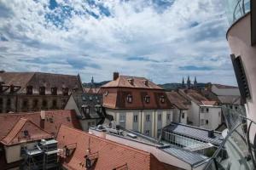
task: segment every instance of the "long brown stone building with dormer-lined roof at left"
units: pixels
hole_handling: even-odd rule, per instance
[[[44,72],[0,72],[0,113],[63,109],[82,93],[78,76]]]

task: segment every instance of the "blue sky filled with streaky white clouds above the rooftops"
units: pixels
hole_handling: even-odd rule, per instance
[[[236,85],[223,0],[0,0],[0,70]]]

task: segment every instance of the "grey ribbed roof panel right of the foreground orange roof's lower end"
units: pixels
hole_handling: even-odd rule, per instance
[[[163,150],[166,153],[168,153],[172,156],[175,156],[178,159],[189,163],[189,165],[191,165],[191,166],[195,166],[196,164],[199,164],[202,161],[207,161],[207,159],[209,159],[207,156],[202,156],[202,155],[200,155],[196,152],[191,152],[189,150],[179,149],[179,148],[173,147],[173,146],[162,148],[160,150]]]

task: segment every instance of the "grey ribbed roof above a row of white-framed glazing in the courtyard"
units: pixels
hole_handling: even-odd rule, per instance
[[[201,140],[204,142],[209,142],[211,144],[221,144],[223,142],[223,137],[221,133],[214,132],[214,138],[208,137],[209,130],[200,127],[193,127],[185,125],[182,123],[172,122],[170,125],[164,128],[164,132],[180,134],[192,139]]]

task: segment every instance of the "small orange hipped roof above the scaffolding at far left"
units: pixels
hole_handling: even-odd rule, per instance
[[[49,139],[53,136],[28,119],[20,118],[8,135],[2,139],[5,145],[19,144],[39,139]]]

